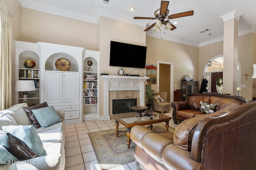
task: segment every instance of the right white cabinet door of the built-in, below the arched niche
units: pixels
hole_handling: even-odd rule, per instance
[[[79,74],[63,73],[63,102],[79,101]]]

